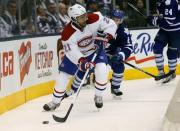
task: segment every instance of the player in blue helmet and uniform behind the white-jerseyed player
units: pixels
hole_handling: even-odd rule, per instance
[[[115,96],[121,96],[120,85],[123,80],[123,73],[125,61],[132,53],[132,41],[128,28],[123,23],[124,12],[114,10],[112,12],[112,19],[118,26],[116,31],[116,38],[109,41],[110,46],[106,49],[106,53],[110,57],[110,65],[113,70],[111,80],[111,93]]]

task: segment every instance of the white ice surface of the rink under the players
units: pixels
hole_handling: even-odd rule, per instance
[[[51,95],[43,96],[0,115],[0,131],[160,131],[179,78],[166,85],[153,79],[124,81],[121,100],[114,99],[107,88],[99,112],[93,101],[94,88],[83,89],[65,123],[55,122],[52,114],[64,116],[72,97],[56,111],[44,112],[42,106]],[[49,124],[42,124],[44,120]]]

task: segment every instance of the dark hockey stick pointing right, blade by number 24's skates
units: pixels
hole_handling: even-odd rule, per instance
[[[147,71],[145,71],[145,70],[143,70],[143,69],[141,69],[141,68],[138,68],[137,66],[134,66],[134,65],[126,62],[126,61],[123,61],[123,63],[125,63],[126,65],[128,65],[128,66],[130,66],[130,67],[132,67],[132,68],[134,68],[134,69],[136,69],[136,70],[139,70],[139,71],[141,71],[141,72],[143,72],[143,73],[145,73],[145,74],[153,77],[153,78],[155,79],[155,81],[159,81],[159,80],[161,80],[161,79],[163,79],[163,78],[166,78],[166,77],[168,77],[168,76],[171,75],[171,74],[165,74],[165,75],[163,75],[163,76],[155,76],[155,75],[153,75],[153,74],[151,74],[151,73],[149,73],[149,72],[147,72]]]

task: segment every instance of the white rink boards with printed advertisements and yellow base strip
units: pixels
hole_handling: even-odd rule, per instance
[[[128,62],[152,74],[157,74],[152,52],[157,31],[131,31],[133,54]],[[58,38],[46,36],[0,42],[0,114],[52,92],[58,73]],[[180,74],[179,65],[177,74]],[[148,77],[126,66],[126,80]]]

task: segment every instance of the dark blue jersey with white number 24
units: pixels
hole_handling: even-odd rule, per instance
[[[165,31],[180,31],[180,5],[178,0],[157,2],[158,25]]]

